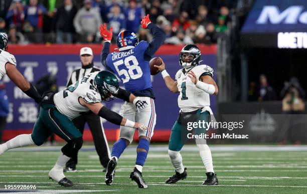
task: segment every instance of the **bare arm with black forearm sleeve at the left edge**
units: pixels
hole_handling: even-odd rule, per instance
[[[33,98],[35,102],[40,103],[42,100],[41,95],[36,88],[29,83],[25,77],[18,71],[15,65],[11,63],[6,64],[6,71],[9,78],[29,97]]]

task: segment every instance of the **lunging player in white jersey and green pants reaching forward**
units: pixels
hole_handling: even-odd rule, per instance
[[[42,145],[54,132],[67,141],[67,144],[62,147],[56,164],[49,172],[49,177],[60,185],[72,186],[73,183],[63,173],[63,167],[83,143],[82,133],[75,127],[72,119],[91,110],[114,124],[147,130],[144,124],[123,118],[100,103],[101,100],[109,100],[114,96],[133,103],[138,110],[145,107],[144,101],[119,88],[115,75],[107,71],[90,73],[58,93],[45,93],[32,134],[18,135],[1,144],[0,155],[16,147]]]

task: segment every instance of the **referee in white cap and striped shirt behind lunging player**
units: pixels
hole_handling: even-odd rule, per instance
[[[93,51],[89,47],[84,47],[80,50],[80,59],[82,63],[82,67],[80,69],[76,69],[72,72],[70,79],[68,80],[67,87],[80,78],[86,76],[89,73],[93,73],[96,71],[100,71],[100,69],[94,67],[93,65]],[[81,131],[83,134],[85,123],[89,125],[89,128],[92,132],[94,144],[96,151],[99,155],[99,160],[101,165],[103,166],[103,171],[110,160],[110,151],[107,139],[104,134],[104,129],[102,126],[101,119],[98,115],[95,115],[93,112],[86,112],[83,115],[75,118],[73,123]],[[64,172],[75,172],[77,171],[76,165],[78,163],[78,153],[74,155],[67,163],[64,168]]]

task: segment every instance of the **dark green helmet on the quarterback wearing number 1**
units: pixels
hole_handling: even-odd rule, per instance
[[[189,59],[189,60],[188,60]],[[199,65],[201,52],[196,45],[186,45],[180,52],[179,64],[185,69]]]

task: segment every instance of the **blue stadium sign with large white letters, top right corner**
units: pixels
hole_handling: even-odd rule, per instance
[[[258,0],[242,29],[245,46],[307,48],[307,0]]]

